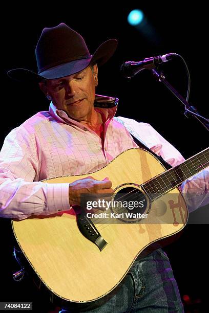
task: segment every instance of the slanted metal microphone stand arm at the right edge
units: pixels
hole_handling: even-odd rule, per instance
[[[185,116],[187,113],[194,116],[207,130],[209,130],[209,119],[201,116],[194,105],[190,105],[176,90],[175,88],[165,79],[162,72],[158,72],[156,69],[152,69],[152,74],[157,81],[162,82],[168,89],[185,105]],[[188,117],[188,116],[187,116]]]

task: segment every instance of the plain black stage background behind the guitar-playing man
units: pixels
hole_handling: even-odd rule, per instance
[[[53,6],[53,7],[52,7]],[[109,38],[118,39],[118,49],[110,61],[99,69],[97,94],[119,98],[117,116],[150,123],[189,158],[208,146],[206,129],[194,118],[183,115],[183,105],[156,82],[148,71],[132,80],[121,77],[120,65],[127,60],[139,61],[146,57],[165,53],[182,55],[191,73],[190,103],[200,113],[208,115],[207,106],[207,16],[206,8],[194,5],[182,8],[181,3],[169,4],[162,9],[158,5],[112,7],[113,4],[72,6],[68,3],[51,4],[43,9],[28,3],[24,7],[8,6],[2,24],[3,88],[1,105],[0,146],[14,127],[23,123],[37,111],[48,110],[49,102],[38,86],[10,80],[6,73],[13,68],[36,71],[34,49],[44,27],[54,27],[61,22],[79,32],[86,40],[90,53]],[[143,10],[147,22],[144,31],[128,25],[127,15],[135,8]],[[185,97],[186,72],[183,62],[176,59],[163,65],[166,78]],[[209,208],[205,207],[204,210]],[[207,290],[203,286],[208,277],[208,261],[205,245],[208,234],[208,213],[204,225],[187,225],[181,238],[165,248],[179,285],[180,294],[189,295],[193,303],[187,312],[204,312],[208,307]],[[208,211],[207,211],[208,212]],[[52,309],[45,301],[43,309],[33,285],[25,280],[15,283],[12,273],[19,270],[13,260],[13,239],[9,220],[0,220],[1,230],[1,301],[33,301],[34,311]]]

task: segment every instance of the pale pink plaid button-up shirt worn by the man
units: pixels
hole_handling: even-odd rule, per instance
[[[24,219],[32,214],[69,210],[69,184],[39,181],[90,173],[107,165],[122,151],[137,147],[126,127],[114,118],[117,100],[98,95],[95,98],[96,110],[102,110],[107,118],[103,145],[94,131],[70,119],[53,103],[49,111],[39,112],[13,129],[0,152],[0,216]],[[120,119],[172,166],[184,161],[149,124]],[[196,197],[196,203],[192,200],[188,203],[191,211],[209,203],[208,177],[206,169],[182,184],[183,193],[203,194],[201,200]]]

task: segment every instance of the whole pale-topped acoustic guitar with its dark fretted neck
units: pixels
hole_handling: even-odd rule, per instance
[[[208,166],[209,148],[169,170],[148,151],[128,149],[93,173],[43,181],[109,177],[114,194],[108,210],[81,206],[12,220],[14,236],[54,295],[72,302],[97,300],[118,286],[146,249],[160,247],[183,229],[188,210],[178,186]],[[124,202],[139,205],[129,208]]]

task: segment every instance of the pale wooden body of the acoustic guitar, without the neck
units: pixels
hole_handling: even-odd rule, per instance
[[[112,188],[117,190],[118,186],[127,184],[141,185],[164,171],[151,153],[133,148],[94,173],[55,177],[43,182],[72,183],[91,175],[97,180],[109,177]],[[148,201],[145,213],[147,218],[132,223],[94,222],[107,242],[102,251],[81,234],[73,209],[13,220],[12,227],[19,247],[52,293],[67,301],[90,302],[110,293],[145,248],[177,234],[188,217],[178,188],[152,203]]]

